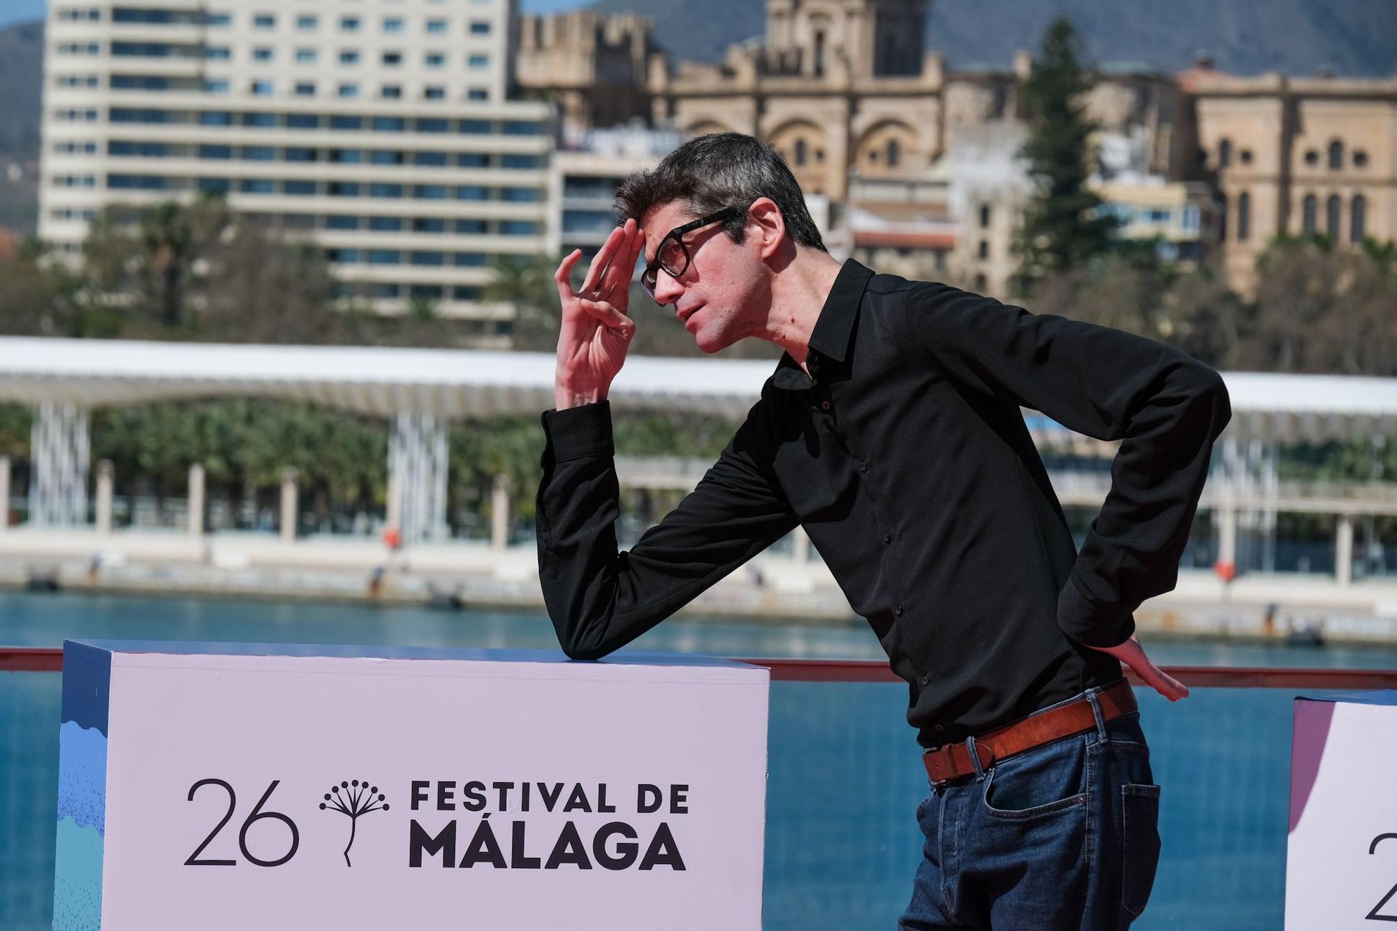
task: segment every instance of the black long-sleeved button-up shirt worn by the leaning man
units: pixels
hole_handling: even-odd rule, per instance
[[[1231,417],[1161,342],[848,261],[698,486],[616,551],[610,410],[543,414],[539,579],[569,656],[615,650],[796,524],[909,684],[923,745],[1120,677],[1109,654],[1178,562]],[[1122,440],[1078,554],[1021,407]]]

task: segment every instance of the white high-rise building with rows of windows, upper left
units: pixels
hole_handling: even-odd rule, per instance
[[[548,105],[510,101],[514,0],[52,0],[39,235],[221,192],[306,231],[380,312],[507,327],[492,256],[549,239]]]

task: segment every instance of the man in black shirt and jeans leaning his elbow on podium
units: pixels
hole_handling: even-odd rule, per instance
[[[1178,577],[1222,379],[1164,344],[840,264],[770,147],[696,138],[617,193],[580,289],[557,268],[539,577],[563,650],[640,636],[798,524],[908,682],[930,794],[900,928],[1126,928],[1160,787],[1125,663],[1178,700],[1133,611]],[[606,394],[633,268],[705,352],[785,354],[698,486],[629,552]],[[682,389],[682,386],[676,386]],[[1081,552],[1023,407],[1120,440]]]

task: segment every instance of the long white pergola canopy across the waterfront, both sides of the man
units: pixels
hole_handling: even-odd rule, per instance
[[[553,366],[553,356],[539,352],[0,337],[0,401],[103,407],[268,397],[461,419],[550,408]],[[636,356],[612,386],[612,404],[740,419],[774,368]],[[1228,372],[1224,380],[1232,400],[1228,435],[1239,440],[1397,432],[1397,379]]]

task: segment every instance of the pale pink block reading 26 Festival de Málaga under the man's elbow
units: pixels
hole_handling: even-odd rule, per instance
[[[760,928],[768,681],[66,642],[53,927]]]

